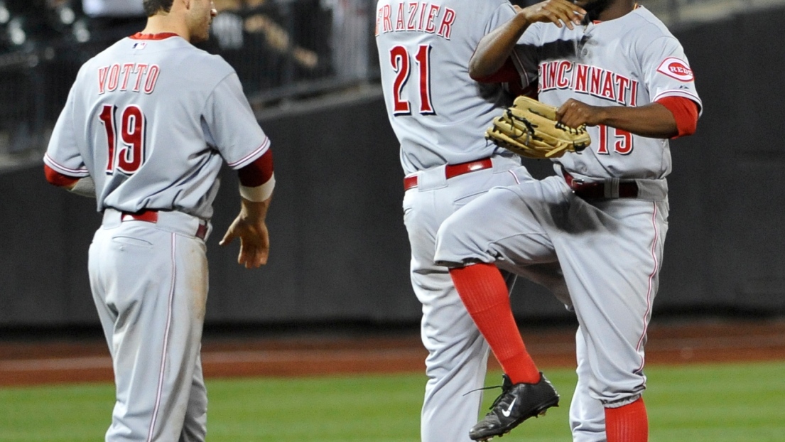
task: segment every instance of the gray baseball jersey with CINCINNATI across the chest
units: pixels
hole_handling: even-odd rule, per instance
[[[663,97],[701,104],[684,49],[643,7],[623,19],[573,30],[531,24],[514,55],[524,86],[537,82],[539,100],[557,107],[569,98],[594,106],[637,107]],[[670,174],[667,140],[608,126],[588,130],[588,150],[554,160],[575,177],[661,179]]]

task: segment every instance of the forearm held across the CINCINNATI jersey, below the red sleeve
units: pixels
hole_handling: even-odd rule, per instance
[[[597,124],[649,138],[671,138],[678,133],[674,115],[659,103],[647,104],[640,108],[611,106],[600,109]]]

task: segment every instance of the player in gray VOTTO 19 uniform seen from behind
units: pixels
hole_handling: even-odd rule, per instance
[[[196,49],[210,0],[144,0],[148,24],[84,64],[44,158],[47,179],[97,198],[89,279],[115,372],[107,441],[203,441],[199,351],[207,236],[221,164],[239,170],[241,210],[221,244],[268,259],[270,141],[235,71]]]

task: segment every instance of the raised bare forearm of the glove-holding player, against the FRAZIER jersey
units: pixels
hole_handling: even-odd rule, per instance
[[[469,59],[469,76],[479,80],[494,75],[506,63],[528,27],[526,18],[518,13],[506,24],[485,35]]]

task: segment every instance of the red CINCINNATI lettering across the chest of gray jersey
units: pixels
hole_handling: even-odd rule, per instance
[[[547,61],[538,71],[538,92],[572,89],[624,106],[637,105],[638,82],[613,71],[568,60]]]

